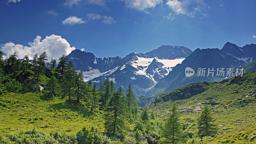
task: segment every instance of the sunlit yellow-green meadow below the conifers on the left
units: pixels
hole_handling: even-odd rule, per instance
[[[82,127],[104,128],[102,111],[80,105],[66,105],[59,98],[45,99],[41,93],[6,93],[0,96],[0,134],[36,128],[45,132],[72,131]],[[47,128],[42,126],[47,125]]]

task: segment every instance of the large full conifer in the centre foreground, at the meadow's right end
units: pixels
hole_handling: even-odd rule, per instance
[[[115,136],[124,129],[124,98],[119,92],[114,92],[109,99],[105,114],[105,128],[109,136]]]

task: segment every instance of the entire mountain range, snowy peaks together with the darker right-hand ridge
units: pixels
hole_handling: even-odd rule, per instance
[[[195,51],[184,46],[163,45],[145,54],[132,52],[124,58],[97,58],[91,52],[76,49],[67,58],[77,71],[84,73],[86,82],[92,79],[99,87],[109,77],[116,88],[131,84],[136,96],[151,97],[194,82],[227,79],[226,75],[186,77],[185,69],[239,68],[256,60],[256,45],[238,47],[227,42],[222,49],[198,48]]]

